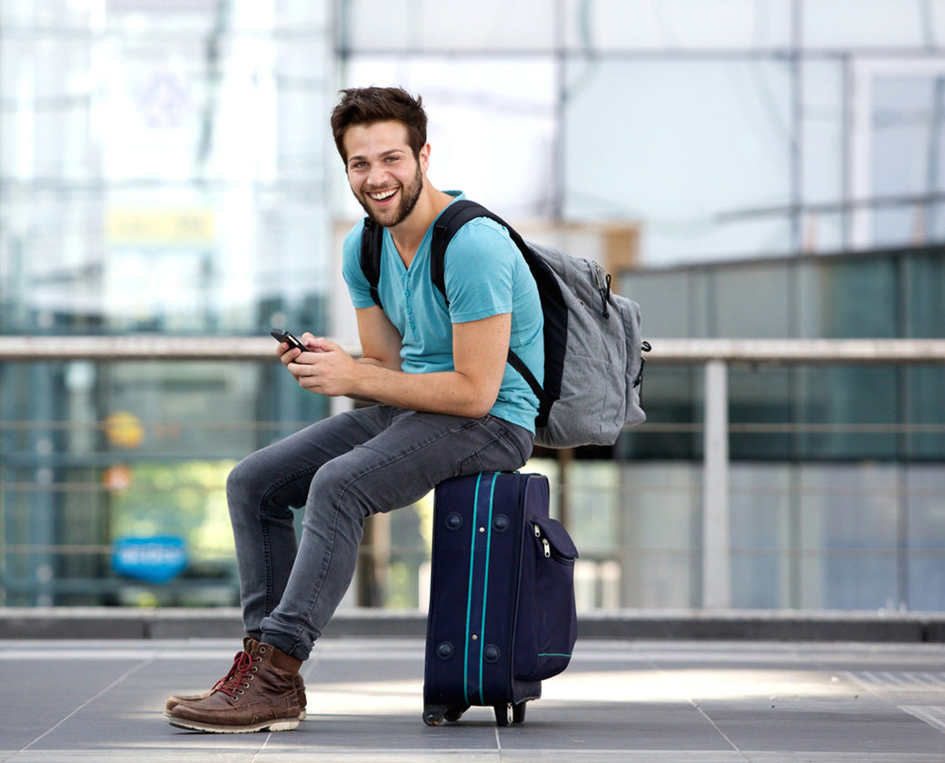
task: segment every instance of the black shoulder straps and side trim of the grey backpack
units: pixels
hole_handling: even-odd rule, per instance
[[[535,375],[524,361],[508,349],[508,365],[518,371],[532,392],[539,399],[539,412],[535,419],[537,427],[544,427],[548,423],[551,406],[561,397],[561,377],[564,373],[564,356],[555,351],[563,348],[568,333],[568,311],[561,297],[561,287],[551,268],[539,255],[531,250],[518,231],[497,214],[490,212],[481,204],[466,199],[454,201],[440,213],[433,226],[433,240],[430,245],[430,280],[437,287],[439,293],[446,300],[449,307],[450,298],[446,295],[446,247],[450,245],[456,231],[470,220],[477,217],[488,217],[490,220],[503,226],[508,231],[515,246],[522,252],[528,269],[538,285],[541,298],[541,312],[544,316],[544,385],[539,384]],[[361,234],[361,270],[368,279],[370,296],[374,303],[384,309],[381,297],[377,290],[381,279],[381,247],[383,246],[384,229],[376,225],[369,218],[365,218],[364,231]]]

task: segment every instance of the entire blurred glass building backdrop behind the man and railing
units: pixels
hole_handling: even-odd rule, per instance
[[[281,366],[69,337],[354,343],[339,88],[421,93],[430,178],[606,263],[661,338],[945,336],[943,0],[0,0],[0,604],[236,601],[223,484],[330,411]],[[537,453],[583,608],[702,601],[703,369]],[[945,608],[940,365],[730,370],[730,605]],[[349,603],[422,607],[430,506]]]

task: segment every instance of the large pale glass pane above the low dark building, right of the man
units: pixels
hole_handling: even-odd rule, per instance
[[[567,218],[642,221],[648,264],[790,249],[785,218],[749,213],[790,201],[785,64],[589,59],[567,71]]]

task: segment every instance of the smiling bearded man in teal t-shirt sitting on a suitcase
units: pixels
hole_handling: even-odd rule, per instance
[[[299,670],[352,581],[366,517],[414,503],[450,477],[523,466],[538,400],[507,365],[509,345],[541,380],[541,303],[501,226],[464,226],[446,257],[449,307],[430,279],[438,214],[459,192],[426,178],[421,99],[399,88],[342,92],[335,144],[353,194],[384,230],[378,292],[344,242],[362,357],[303,334],[278,352],[303,389],[377,404],[332,416],[253,453],[227,482],[247,636],[210,692],[167,701],[171,723],[238,733],[295,728]],[[292,508],[304,506],[296,548]]]

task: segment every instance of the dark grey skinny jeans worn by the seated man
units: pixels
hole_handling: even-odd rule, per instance
[[[306,659],[351,585],[366,517],[450,477],[515,470],[532,448],[531,432],[491,415],[376,405],[252,453],[227,480],[247,634]],[[302,506],[297,547],[292,509]]]

